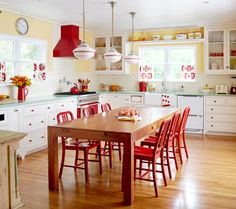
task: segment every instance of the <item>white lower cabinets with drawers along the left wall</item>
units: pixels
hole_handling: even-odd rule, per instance
[[[76,118],[76,98],[40,102],[31,105],[0,108],[0,129],[25,132],[20,141],[17,155],[25,155],[47,147],[47,126],[57,124],[57,114],[71,111]]]

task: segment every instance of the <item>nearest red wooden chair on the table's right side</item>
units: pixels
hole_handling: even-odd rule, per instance
[[[154,190],[156,197],[158,197],[158,190],[157,190],[157,181],[156,181],[156,172],[161,172],[163,175],[163,179],[165,179],[165,170],[164,170],[164,162],[163,162],[163,151],[164,146],[166,144],[166,135],[168,133],[168,129],[170,126],[170,119],[166,119],[162,122],[158,140],[156,140],[155,145],[153,148],[147,148],[142,146],[135,146],[134,147],[134,179],[145,180],[145,181],[152,181],[154,183]],[[156,138],[157,139],[157,138]],[[161,170],[156,170],[156,161],[157,159],[161,160]],[[137,160],[140,161],[140,166],[137,167]],[[148,168],[143,167],[143,163],[151,164]],[[139,170],[139,176],[137,177],[136,170]],[[145,171],[142,174],[142,171]],[[147,174],[152,172],[153,178],[144,178]],[[166,185],[166,184],[165,184]]]

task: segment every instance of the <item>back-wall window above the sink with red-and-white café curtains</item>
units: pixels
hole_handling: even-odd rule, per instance
[[[140,47],[139,78],[145,81],[196,81],[196,47]]]

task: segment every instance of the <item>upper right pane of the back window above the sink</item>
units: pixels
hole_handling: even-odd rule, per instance
[[[194,48],[170,49],[169,64],[195,64]]]

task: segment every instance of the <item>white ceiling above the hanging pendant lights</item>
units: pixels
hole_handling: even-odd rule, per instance
[[[236,0],[117,0],[115,32],[131,28],[130,11],[136,11],[135,30],[236,23]],[[85,0],[86,29],[111,31],[109,0]],[[0,0],[0,8],[59,24],[82,25],[82,0]]]

